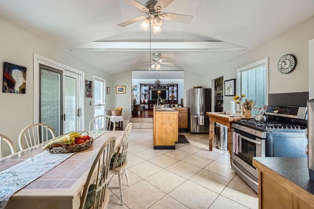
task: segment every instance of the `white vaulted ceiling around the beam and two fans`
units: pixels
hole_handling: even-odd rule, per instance
[[[138,0],[145,4],[146,0]],[[174,0],[163,11],[194,16],[190,24],[164,21],[152,42],[221,41],[239,51],[158,51],[175,63],[162,70],[206,74],[314,16],[314,0]],[[140,23],[117,26],[145,15],[124,0],[0,0],[0,16],[63,48],[94,41],[149,42]],[[184,44],[183,44],[184,45]],[[153,53],[151,51],[151,56]],[[70,51],[93,66],[115,74],[148,70],[149,51]]]

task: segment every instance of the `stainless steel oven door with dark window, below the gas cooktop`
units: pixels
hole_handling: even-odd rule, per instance
[[[258,172],[253,166],[253,158],[265,157],[265,139],[257,138],[237,129],[232,129],[232,131],[238,133],[241,141],[241,149],[238,154],[232,152],[232,160],[258,179]]]

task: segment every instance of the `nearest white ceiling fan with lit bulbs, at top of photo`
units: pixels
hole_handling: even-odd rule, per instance
[[[141,23],[141,28],[147,30],[149,24],[151,23],[154,29],[154,33],[160,32],[160,26],[162,24],[162,20],[169,20],[169,21],[177,21],[180,23],[191,23],[193,16],[190,15],[182,15],[182,14],[175,14],[175,13],[166,13],[162,12],[162,10],[168,6],[173,0],[148,0],[146,1],[145,5],[139,3],[136,0],[124,0],[130,3],[132,6],[144,11],[146,15],[139,16],[128,20],[126,22],[118,24],[121,27],[125,27],[131,23],[135,23],[140,20],[144,20]]]

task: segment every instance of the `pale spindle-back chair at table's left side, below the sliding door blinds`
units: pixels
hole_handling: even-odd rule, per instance
[[[55,134],[47,124],[34,123],[26,126],[19,136],[19,147],[21,150],[55,138]]]

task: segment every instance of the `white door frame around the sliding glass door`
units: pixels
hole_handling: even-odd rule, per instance
[[[69,66],[66,66],[64,64],[58,63],[56,61],[53,61],[49,58],[43,57],[41,55],[34,53],[34,67],[33,67],[33,73],[34,73],[34,109],[33,109],[33,122],[38,123],[39,122],[39,79],[40,79],[40,71],[39,71],[39,64],[46,65],[52,68],[55,68],[57,70],[62,71],[70,71],[73,73],[78,74],[78,91],[81,94],[81,97],[78,99],[78,108],[81,108],[81,112],[84,113],[84,96],[82,93],[85,93],[85,87],[83,84],[84,82],[84,72],[71,68]],[[78,130],[85,130],[84,128],[84,114],[82,114],[79,117],[78,121]]]

